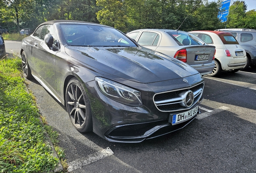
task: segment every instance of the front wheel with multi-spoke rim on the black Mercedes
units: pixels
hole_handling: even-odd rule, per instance
[[[68,82],[66,106],[70,120],[77,131],[85,133],[93,130],[90,103],[77,78],[72,78]]]

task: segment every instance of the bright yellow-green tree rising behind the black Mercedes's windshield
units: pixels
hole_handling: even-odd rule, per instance
[[[97,6],[101,6],[96,15],[101,24],[115,27],[123,32],[127,31],[127,17],[124,12],[123,3],[119,0],[97,0]]]

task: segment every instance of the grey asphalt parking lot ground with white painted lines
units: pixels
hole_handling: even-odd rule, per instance
[[[14,42],[5,42],[8,52]],[[256,69],[204,81],[202,114],[179,131],[135,144],[78,133],[66,108],[36,80],[28,82],[40,113],[59,133],[69,172],[255,173]]]

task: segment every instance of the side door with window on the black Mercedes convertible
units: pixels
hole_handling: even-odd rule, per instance
[[[33,68],[40,80],[50,90],[56,91],[56,50],[51,50],[44,42],[46,34],[51,34],[54,40],[56,40],[56,34],[53,25],[50,24],[43,25],[39,29],[41,32],[39,35],[34,34],[35,38],[32,45]]]

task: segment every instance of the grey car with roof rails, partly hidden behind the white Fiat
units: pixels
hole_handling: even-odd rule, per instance
[[[249,66],[256,68],[256,30],[246,28],[227,28],[217,31],[227,31],[236,38],[242,48],[246,51],[247,63],[243,70]]]

